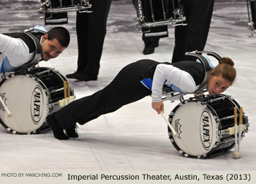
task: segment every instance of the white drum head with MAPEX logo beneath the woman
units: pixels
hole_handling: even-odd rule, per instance
[[[189,156],[203,156],[217,141],[217,123],[208,108],[199,102],[181,104],[171,120],[178,137],[174,142]]]

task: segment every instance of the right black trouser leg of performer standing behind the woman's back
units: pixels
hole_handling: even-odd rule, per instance
[[[172,63],[190,61],[195,58],[184,56],[186,52],[203,50],[206,45],[214,0],[181,0],[187,26],[175,27],[175,47]]]

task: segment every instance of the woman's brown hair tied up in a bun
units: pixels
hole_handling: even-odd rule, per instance
[[[230,58],[222,58],[219,64],[214,68],[215,76],[222,76],[225,80],[233,83],[236,79],[236,69],[234,62]]]

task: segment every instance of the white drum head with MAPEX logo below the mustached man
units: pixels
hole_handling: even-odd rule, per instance
[[[12,116],[7,117],[1,105],[0,118],[8,128],[18,133],[29,133],[45,122],[48,97],[36,80],[25,75],[10,77],[0,86],[0,94],[12,112]]]

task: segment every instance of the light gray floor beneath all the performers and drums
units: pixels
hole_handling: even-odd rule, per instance
[[[0,32],[21,31],[43,25],[44,21],[39,20],[38,8],[39,0],[1,0]],[[88,83],[69,80],[77,99],[104,88],[123,66],[133,61],[141,58],[171,61],[173,27],[169,26],[170,37],[160,40],[154,54],[143,55],[141,34],[135,29],[135,15],[130,1],[113,1],[99,79]],[[240,159],[234,160],[231,151],[204,160],[181,157],[167,139],[166,123],[151,109],[151,99],[148,97],[80,126],[78,139],[60,141],[54,139],[50,131],[37,135],[13,135],[0,127],[0,170],[255,170],[256,39],[249,37],[247,20],[245,1],[216,1],[205,49],[235,61],[238,76],[225,93],[244,107],[250,123],[249,133],[241,144]],[[59,58],[40,64],[54,67],[62,74],[76,69],[75,12],[69,13],[69,24],[65,27],[71,32],[70,46]],[[177,102],[171,104],[165,101],[165,114],[176,105]]]

